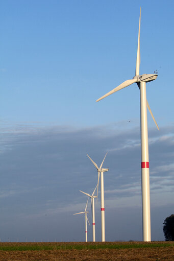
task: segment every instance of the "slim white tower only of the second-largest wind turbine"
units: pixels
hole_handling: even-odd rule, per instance
[[[105,202],[104,202],[104,175],[101,171],[101,233],[102,242],[105,242]]]

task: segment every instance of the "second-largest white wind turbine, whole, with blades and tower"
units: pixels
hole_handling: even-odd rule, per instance
[[[106,155],[107,155],[107,153],[106,153]],[[98,197],[98,183],[99,183],[100,173],[101,173],[101,233],[102,233],[102,242],[105,242],[105,202],[104,202],[104,175],[103,175],[103,173],[109,170],[109,169],[102,168],[103,162],[106,158],[106,155],[105,155],[105,157],[102,161],[102,164],[100,165],[100,168],[98,168],[97,164],[87,154],[87,156],[92,161],[92,163],[94,164],[95,168],[98,171],[97,197]]]

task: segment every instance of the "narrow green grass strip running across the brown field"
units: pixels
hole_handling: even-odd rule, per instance
[[[64,244],[64,245],[27,245],[27,246],[0,246],[0,250],[4,251],[42,251],[42,250],[95,250],[95,249],[134,249],[134,248],[158,248],[158,247],[173,247],[174,243],[166,244]]]

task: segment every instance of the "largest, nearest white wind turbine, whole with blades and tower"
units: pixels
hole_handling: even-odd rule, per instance
[[[141,8],[139,17],[139,31],[138,31],[138,48],[136,70],[133,79],[127,80],[116,88],[105,94],[96,102],[104,99],[110,94],[121,90],[133,83],[137,83],[140,89],[140,117],[141,117],[141,189],[142,189],[142,225],[143,225],[143,241],[151,241],[151,210],[150,210],[150,178],[149,178],[149,161],[148,161],[148,133],[147,133],[147,109],[150,111],[153,120],[159,130],[155,121],[154,115],[146,101],[146,82],[156,80],[157,74],[143,74],[139,75],[140,67],[140,19]]]

